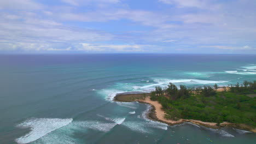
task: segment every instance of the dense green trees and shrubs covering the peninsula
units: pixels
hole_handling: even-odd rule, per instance
[[[256,127],[256,81],[230,85],[230,91],[217,92],[214,88],[189,89],[183,85],[178,89],[173,83],[167,88],[156,87],[150,99],[158,100],[167,113],[166,118],[178,120],[197,119],[204,122],[243,123]]]

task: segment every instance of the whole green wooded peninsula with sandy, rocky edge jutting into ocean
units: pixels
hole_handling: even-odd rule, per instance
[[[148,117],[169,125],[191,122],[210,128],[234,127],[256,133],[256,81],[203,88],[155,87],[150,93],[117,94],[116,101],[153,106]]]

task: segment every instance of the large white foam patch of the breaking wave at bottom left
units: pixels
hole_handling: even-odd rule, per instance
[[[72,118],[61,119],[61,118],[31,118],[27,119],[25,122],[22,122],[17,125],[19,128],[31,128],[30,133],[25,136],[21,136],[15,141],[17,143],[29,143],[36,141],[43,137],[46,134],[51,133],[56,129],[64,127],[65,125],[71,123]]]

